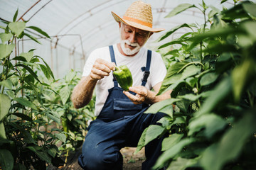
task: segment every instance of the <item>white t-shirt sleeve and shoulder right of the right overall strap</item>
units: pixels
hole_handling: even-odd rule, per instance
[[[166,76],[166,66],[161,55],[157,52],[154,52],[154,55],[152,55],[151,65],[151,88],[153,88],[156,84],[164,80]]]

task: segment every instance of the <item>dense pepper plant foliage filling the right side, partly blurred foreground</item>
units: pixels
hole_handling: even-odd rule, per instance
[[[200,6],[181,4],[166,16],[198,8],[205,23],[184,23],[159,38],[167,40],[183,27],[191,30],[159,47],[168,67],[159,94],[173,91],[171,99],[145,112],[166,117],[144,130],[137,147],[138,152],[151,140],[168,136],[153,169],[256,167],[256,4],[234,2],[222,11],[204,1]]]

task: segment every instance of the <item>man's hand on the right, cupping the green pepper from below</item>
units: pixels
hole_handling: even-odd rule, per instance
[[[133,94],[130,94],[128,91],[123,91],[123,93],[132,101],[134,104],[141,104],[144,101],[147,100],[149,92],[148,89],[144,86],[134,86],[130,87],[129,91],[133,91],[136,93],[134,96]]]

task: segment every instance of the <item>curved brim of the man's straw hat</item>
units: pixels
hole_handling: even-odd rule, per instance
[[[142,24],[139,24],[139,23],[135,23],[135,22],[132,22],[132,21],[127,21],[127,20],[124,20],[124,19],[120,18],[119,16],[117,16],[116,13],[114,13],[114,12],[111,12],[111,13],[112,13],[112,16],[114,17],[114,20],[117,21],[118,23],[122,22],[122,23],[125,23],[125,24],[129,25],[129,26],[139,28],[141,30],[146,30],[146,31],[149,31],[149,32],[152,32],[152,33],[158,33],[160,31],[164,30],[164,28],[150,28],[148,26],[143,26]]]

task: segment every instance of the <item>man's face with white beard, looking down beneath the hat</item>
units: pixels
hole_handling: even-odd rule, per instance
[[[140,30],[139,28],[134,28],[128,26],[124,23],[119,23],[120,34],[121,34],[121,48],[125,55],[135,55],[141,47],[149,39],[150,33],[146,30]]]

